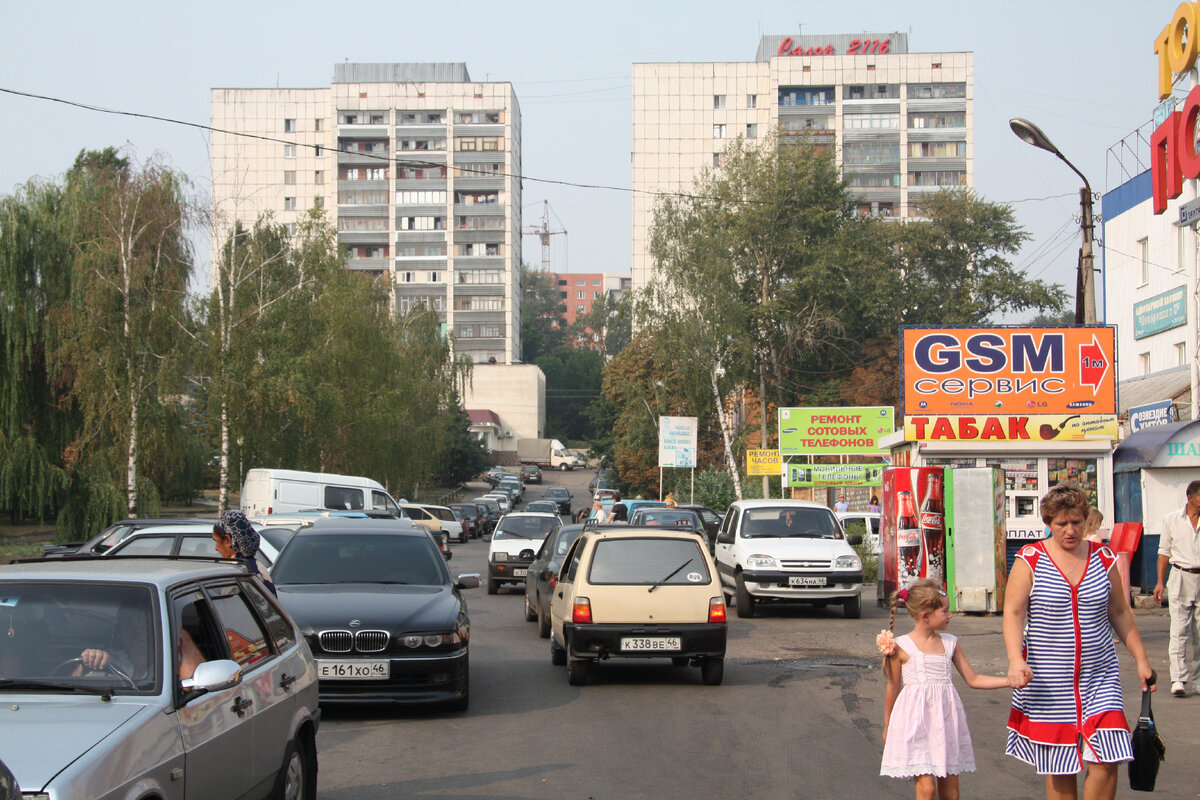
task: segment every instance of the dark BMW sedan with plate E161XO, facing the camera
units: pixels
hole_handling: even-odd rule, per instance
[[[319,519],[292,537],[271,573],[317,660],[322,702],[445,703],[470,697],[470,620],[462,589],[424,530],[377,519]]]

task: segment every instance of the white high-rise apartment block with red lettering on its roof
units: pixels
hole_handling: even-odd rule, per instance
[[[862,213],[910,216],[920,192],[974,185],[974,59],[910,53],[907,34],[764,36],[749,62],[634,65],[632,285],[653,264],[658,192],[689,192],[737,137],[811,137]]]

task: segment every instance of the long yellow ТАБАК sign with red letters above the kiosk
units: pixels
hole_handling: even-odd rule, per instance
[[[1093,441],[1117,439],[1116,415],[906,416],[906,441]]]

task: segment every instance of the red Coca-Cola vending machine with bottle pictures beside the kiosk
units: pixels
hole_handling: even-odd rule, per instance
[[[941,467],[889,467],[883,470],[883,524],[876,593],[884,604],[892,593],[919,578],[946,585],[946,494]]]

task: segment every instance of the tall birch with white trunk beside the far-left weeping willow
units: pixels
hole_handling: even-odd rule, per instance
[[[193,216],[186,179],[158,160],[131,164],[112,149],[80,152],[67,173],[74,264],[64,356],[82,410],[79,462],[89,495],[139,493],[146,421],[182,393],[191,327],[186,291]]]

